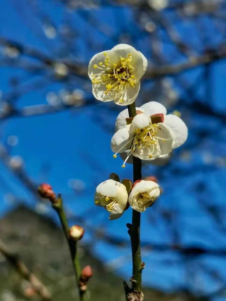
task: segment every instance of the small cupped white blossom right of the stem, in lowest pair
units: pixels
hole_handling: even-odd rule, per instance
[[[147,207],[152,205],[159,195],[160,189],[157,183],[141,180],[131,190],[129,203],[134,210],[144,212]]]

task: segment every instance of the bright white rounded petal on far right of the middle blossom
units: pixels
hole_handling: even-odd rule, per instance
[[[176,115],[164,116],[164,125],[170,128],[174,135],[172,148],[177,148],[187,140],[187,126]]]

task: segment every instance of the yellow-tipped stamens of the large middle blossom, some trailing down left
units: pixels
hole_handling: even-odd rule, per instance
[[[150,123],[149,126],[143,128],[143,129],[136,129],[134,131],[134,135],[133,138],[131,138],[129,141],[126,142],[126,144],[124,144],[117,153],[115,153],[113,155],[114,158],[117,157],[117,154],[129,143],[131,143],[131,147],[130,147],[130,153],[127,156],[126,160],[124,161],[122,167],[125,167],[125,163],[126,161],[129,159],[129,157],[134,154],[135,151],[137,151],[138,149],[144,149],[146,148],[147,152],[147,156],[148,158],[152,158],[153,153],[156,151],[156,148],[159,149],[159,139],[162,142],[165,142],[165,140],[169,140],[169,139],[163,139],[161,137],[158,137],[158,135],[156,135],[158,133],[158,131],[161,131],[161,128],[158,126],[157,123]]]

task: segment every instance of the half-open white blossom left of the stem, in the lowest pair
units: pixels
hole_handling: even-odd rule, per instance
[[[110,212],[109,219],[118,219],[127,206],[128,193],[125,185],[109,179],[96,188],[94,203]]]

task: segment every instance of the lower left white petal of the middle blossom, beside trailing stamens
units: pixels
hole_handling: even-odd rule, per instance
[[[130,148],[132,143],[132,141],[130,140],[132,139],[133,136],[129,135],[128,132],[129,128],[130,126],[125,126],[124,128],[118,130],[111,138],[111,150],[114,153],[117,152],[122,153]],[[121,147],[123,148],[120,150]]]

